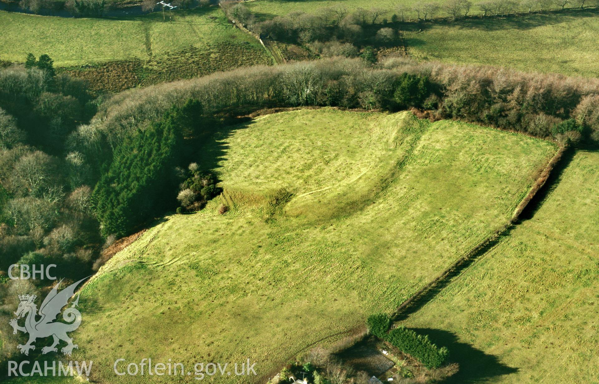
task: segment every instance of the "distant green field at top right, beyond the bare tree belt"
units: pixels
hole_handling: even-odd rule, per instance
[[[599,75],[599,18],[591,11],[471,19],[413,28],[423,31],[407,31],[404,36],[409,54],[417,59]]]

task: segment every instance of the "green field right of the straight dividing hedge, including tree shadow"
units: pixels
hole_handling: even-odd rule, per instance
[[[530,220],[407,319],[453,346],[456,382],[599,382],[598,193],[599,153],[579,151]]]

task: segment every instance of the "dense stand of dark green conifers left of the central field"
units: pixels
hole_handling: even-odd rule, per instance
[[[174,208],[180,180],[173,169],[183,160],[183,135],[198,124],[201,112],[197,100],[187,100],[116,148],[92,194],[104,236],[124,236],[159,212]]]

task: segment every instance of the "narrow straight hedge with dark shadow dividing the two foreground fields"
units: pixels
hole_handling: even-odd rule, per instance
[[[479,242],[474,248],[472,248],[469,252],[467,252],[464,256],[456,260],[453,264],[447,267],[446,270],[440,273],[436,278],[432,279],[431,282],[426,284],[424,287],[419,289],[418,292],[404,300],[400,306],[395,309],[394,313],[392,313],[392,318],[394,321],[399,321],[406,319],[407,316],[416,312],[420,307],[426,304],[431,298],[433,298],[441,289],[446,287],[447,284],[456,276],[460,275],[470,266],[475,260],[478,260],[481,256],[485,255],[491,248],[497,244],[497,242],[503,237],[505,234],[509,233],[515,226],[516,222],[519,220],[520,215],[524,212],[524,209],[527,208],[528,204],[533,200],[533,197],[543,188],[546,184],[547,179],[553,168],[559,163],[559,160],[562,159],[562,155],[564,154],[567,147],[562,145],[559,146],[558,151],[553,155],[553,157],[549,160],[547,165],[541,171],[539,177],[536,182],[531,187],[527,196],[522,199],[522,201],[516,207],[512,218],[510,221],[503,225],[501,228],[496,230],[491,236],[486,237],[486,239]]]

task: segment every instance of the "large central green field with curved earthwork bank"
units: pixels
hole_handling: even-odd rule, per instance
[[[198,148],[223,195],[173,215],[81,292],[74,359],[256,362],[270,373],[391,311],[504,225],[555,146],[399,114],[282,112]],[[210,159],[217,159],[212,161]],[[218,215],[226,203],[231,211]],[[258,382],[214,377],[215,382]]]

